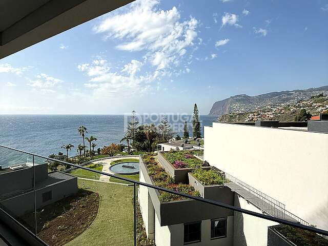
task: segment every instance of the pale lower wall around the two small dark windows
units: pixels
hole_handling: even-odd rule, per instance
[[[201,242],[192,243],[195,246],[232,246],[234,237],[234,218],[227,217],[227,237],[211,240],[211,220],[201,222]],[[183,224],[160,227],[156,218],[155,222],[155,242],[156,246],[182,246],[183,245]]]

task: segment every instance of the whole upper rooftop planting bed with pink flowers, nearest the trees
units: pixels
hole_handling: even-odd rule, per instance
[[[194,156],[195,151],[174,151],[163,152],[162,155],[175,168],[196,168],[201,167],[202,161]]]

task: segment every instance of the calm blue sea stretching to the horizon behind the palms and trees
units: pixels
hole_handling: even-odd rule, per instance
[[[98,148],[112,142],[119,143],[124,136],[126,118],[125,115],[0,115],[0,144],[44,156],[65,152],[60,146],[73,144],[70,155],[75,155],[77,145],[82,143],[82,137],[77,132],[79,126],[87,127],[87,136],[98,138]],[[187,119],[190,122],[189,132],[192,133],[190,116],[169,116],[168,119],[174,122],[174,131],[180,136],[183,135],[183,122]],[[211,126],[215,117],[201,115],[200,119],[203,132],[203,126]],[[158,123],[156,117],[144,117],[142,120],[145,123],[157,120]]]

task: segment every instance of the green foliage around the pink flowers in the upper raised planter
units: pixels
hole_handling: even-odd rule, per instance
[[[163,152],[162,155],[173,165],[177,160],[186,163],[187,168],[196,168],[202,165],[202,161],[196,157],[186,158],[186,155],[193,155],[194,151],[174,151]]]

